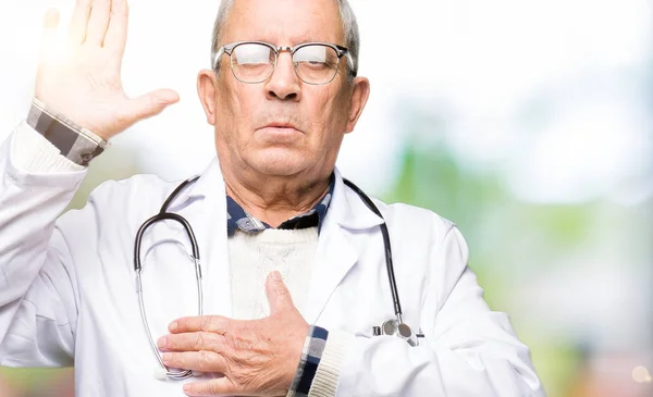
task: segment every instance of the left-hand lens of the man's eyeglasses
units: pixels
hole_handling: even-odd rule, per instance
[[[232,70],[244,83],[260,83],[274,70],[274,51],[268,46],[245,42],[234,47],[231,55]]]

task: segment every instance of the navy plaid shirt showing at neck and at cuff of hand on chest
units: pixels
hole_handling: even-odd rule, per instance
[[[332,174],[329,181],[329,190],[326,195],[318,202],[310,211],[300,215],[291,218],[283,222],[278,228],[296,229],[318,226],[318,233],[322,227],[322,221],[329,210],[333,188],[335,186],[335,177]],[[234,199],[226,196],[226,234],[233,236],[237,229],[246,233],[257,233],[272,228],[269,224],[257,220],[248,214]],[[308,396],[310,386],[316,376],[318,365],[326,346],[329,332],[322,327],[311,325],[304,342],[301,359],[295,372],[295,379],[288,390],[288,397],[305,397]]]

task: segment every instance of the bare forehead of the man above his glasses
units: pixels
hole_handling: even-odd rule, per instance
[[[278,46],[326,41],[345,46],[335,0],[234,0],[223,44],[262,40]]]

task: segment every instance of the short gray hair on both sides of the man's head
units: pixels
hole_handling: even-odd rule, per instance
[[[340,10],[341,20],[343,22],[343,32],[345,33],[345,47],[349,49],[352,54],[353,64],[349,65],[349,77],[356,76],[358,72],[358,52],[360,50],[360,36],[358,34],[358,22],[356,22],[356,15],[354,10],[349,5],[347,0],[334,0],[337,3]],[[220,9],[218,10],[218,16],[213,24],[213,42],[211,47],[211,62],[213,62],[213,55],[220,49],[222,40],[222,32],[226,24],[226,17],[229,12],[234,5],[234,0],[222,0],[220,2]],[[215,71],[219,71],[219,63],[217,62],[213,66]]]

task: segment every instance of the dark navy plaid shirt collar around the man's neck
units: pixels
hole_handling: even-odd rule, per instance
[[[329,190],[322,197],[322,199],[313,206],[309,211],[293,216],[289,220],[283,222],[276,228],[296,229],[318,226],[318,234],[322,228],[331,198],[333,197],[333,190],[335,187],[335,175],[331,174],[329,179]],[[246,233],[257,233],[266,228],[272,228],[269,224],[257,220],[252,215],[248,214],[233,198],[226,196],[226,235],[233,236],[237,229]]]

